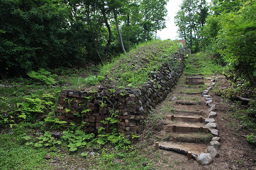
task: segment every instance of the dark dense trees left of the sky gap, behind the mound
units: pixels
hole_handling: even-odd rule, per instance
[[[102,62],[155,39],[167,0],[2,0],[0,72]]]

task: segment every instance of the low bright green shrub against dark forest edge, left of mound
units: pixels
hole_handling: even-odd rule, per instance
[[[31,78],[44,82],[45,84],[52,85],[55,84],[56,81],[54,80],[54,77],[57,75],[50,75],[51,72],[46,71],[44,68],[39,68],[38,72],[31,71],[27,75],[30,76]]]

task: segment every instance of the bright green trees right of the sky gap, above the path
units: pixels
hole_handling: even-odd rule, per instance
[[[183,0],[180,7],[175,22],[187,47],[212,54],[233,83],[255,86],[255,0]]]

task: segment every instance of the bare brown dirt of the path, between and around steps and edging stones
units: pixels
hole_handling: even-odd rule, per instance
[[[193,67],[197,67],[195,65],[197,60],[193,59],[191,63]],[[206,106],[206,99],[201,96],[201,94],[184,94],[180,92],[203,92],[207,90],[208,84],[211,84],[210,79],[201,79],[205,85],[187,85],[185,82],[188,81],[186,77],[204,77],[204,75],[188,75],[186,72],[180,78],[177,87],[175,88],[172,94],[169,94],[167,98],[157,106],[153,110],[155,113],[159,113],[165,116],[164,121],[161,122],[161,126],[159,127],[159,131],[153,131],[152,141],[150,145],[152,148],[155,147],[155,142],[159,142],[159,145],[174,147],[179,149],[184,149],[190,151],[192,153],[201,154],[204,153],[207,146],[210,146],[210,141],[213,135],[210,133],[190,133],[190,132],[177,132],[178,126],[189,126],[189,127],[204,127],[206,124],[196,122],[183,122],[179,119],[168,120],[167,116],[182,116],[182,117],[193,117],[197,118],[202,116],[203,119],[208,118],[208,106]],[[222,88],[229,87],[229,83],[226,78],[222,75],[212,75],[211,79],[215,79],[216,85],[213,88]],[[190,81],[190,79],[189,79]],[[198,81],[198,80],[196,80]],[[219,157],[214,158],[214,162],[210,165],[200,165],[195,160],[191,159],[188,161],[187,156],[181,155],[178,153],[174,153],[172,151],[164,151],[158,150],[156,152],[159,153],[158,158],[158,166],[159,169],[189,169],[189,170],[199,170],[199,169],[209,169],[209,170],[222,170],[222,169],[255,169],[256,170],[256,154],[255,147],[249,145],[246,141],[244,135],[246,131],[234,131],[234,127],[230,126],[230,108],[233,106],[233,103],[227,99],[221,98],[220,96],[215,95],[213,90],[209,90],[208,95],[211,96],[213,102],[211,104],[215,104],[217,116],[214,117],[217,125],[217,130],[219,131],[219,137],[221,138],[219,143],[220,147],[216,149],[219,153]],[[173,101],[172,99],[176,97],[177,99]],[[177,104],[177,100],[190,100],[193,102],[201,102],[202,104],[196,105],[183,105]],[[193,112],[201,112],[203,111],[203,115],[183,115],[178,114],[173,111],[193,111]],[[182,119],[183,120],[183,119]],[[184,119],[187,121],[187,119]],[[234,122],[232,122],[234,123]],[[236,123],[236,122],[235,122]],[[237,124],[239,124],[239,120],[237,120]],[[166,125],[176,126],[176,131],[174,132],[166,132]],[[239,125],[238,125],[239,126]],[[177,139],[187,139],[187,142],[183,142],[182,140],[178,140],[174,142],[174,138]],[[189,139],[191,139],[189,141]],[[195,139],[194,142],[192,142]],[[186,141],[186,140],[185,140]],[[188,142],[189,141],[189,142]]]

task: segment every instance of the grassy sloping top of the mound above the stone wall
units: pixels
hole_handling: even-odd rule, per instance
[[[120,87],[140,87],[149,80],[150,71],[158,71],[180,46],[174,41],[151,41],[142,43],[127,55],[113,59],[101,67],[100,75]]]

